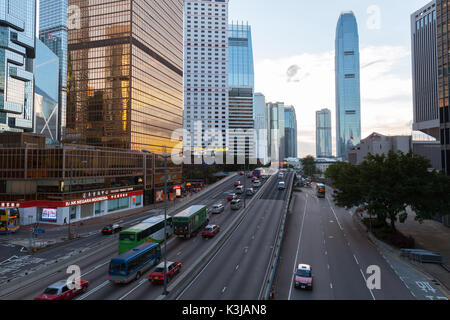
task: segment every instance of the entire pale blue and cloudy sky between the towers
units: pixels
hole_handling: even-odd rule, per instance
[[[334,46],[343,11],[358,21],[362,138],[411,135],[411,14],[428,0],[230,0],[230,22],[252,26],[255,92],[293,105],[299,156],[316,154],[315,113],[332,112],[336,152]],[[288,70],[295,70],[290,73]]]

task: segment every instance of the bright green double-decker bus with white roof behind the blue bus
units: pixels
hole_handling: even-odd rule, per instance
[[[172,217],[167,218],[166,224],[167,237],[171,237],[173,235]],[[119,254],[130,251],[146,242],[164,242],[164,216],[147,219],[134,227],[120,232]]]

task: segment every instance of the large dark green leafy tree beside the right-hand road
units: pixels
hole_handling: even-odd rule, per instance
[[[419,221],[449,213],[449,178],[430,172],[430,167],[428,159],[412,152],[390,152],[387,156],[369,154],[359,166],[334,164],[326,175],[336,188],[334,200],[339,206],[365,206],[379,222],[389,220],[395,232],[396,222],[406,221],[409,206]]]

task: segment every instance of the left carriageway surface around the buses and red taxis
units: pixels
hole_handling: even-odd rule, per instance
[[[232,211],[226,201],[226,195],[229,192],[234,191],[234,182],[241,180],[243,182],[244,177],[239,176],[236,179],[231,179],[222,185],[214,188],[213,190],[205,193],[194,203],[189,204],[202,204],[208,207],[213,206],[218,202],[225,204],[226,210],[221,215],[212,215],[210,223],[218,224],[225,229],[227,224],[231,223],[235,215],[242,212]],[[247,186],[249,187],[250,179],[247,180]],[[185,206],[187,207],[187,206]],[[183,210],[181,208],[179,211]],[[179,212],[178,211],[178,212]],[[176,213],[174,213],[176,214]],[[154,214],[153,214],[154,215]],[[139,222],[147,218],[147,216],[140,216],[139,219],[134,218],[133,223]],[[130,223],[128,223],[131,225]],[[105,239],[107,236],[96,236],[95,240]],[[90,240],[92,241],[92,239]],[[202,239],[200,235],[191,240],[184,240],[176,237],[172,237],[167,243],[167,256],[169,261],[177,261],[183,263],[183,265],[189,265],[193,263],[203,250],[206,250],[211,244],[212,240]],[[164,245],[162,246],[164,250]],[[151,285],[147,277],[151,271],[143,275],[142,280],[139,282],[132,282],[128,285],[115,285],[107,280],[108,265],[110,259],[117,256],[118,250],[118,235],[110,236],[110,241],[104,246],[104,250],[100,254],[88,257],[78,263],[82,272],[82,279],[89,281],[89,290],[83,296],[80,296],[80,300],[150,300],[156,299],[162,293],[161,286]],[[0,297],[2,300],[31,300],[34,297],[41,294],[44,289],[59,280],[65,279],[68,275],[65,275],[62,270],[59,273],[53,274],[46,278],[44,281],[37,281],[26,288],[22,288],[10,295]]]

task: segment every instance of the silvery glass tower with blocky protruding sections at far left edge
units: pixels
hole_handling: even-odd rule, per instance
[[[33,130],[36,0],[0,2],[0,132]]]

